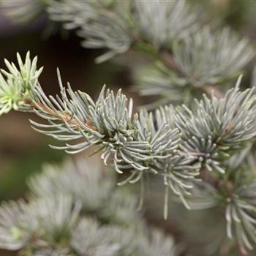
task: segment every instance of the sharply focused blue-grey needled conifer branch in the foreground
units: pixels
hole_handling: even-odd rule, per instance
[[[29,63],[28,58],[26,62]],[[7,67],[10,68],[10,72],[4,72],[7,82],[19,82],[23,88],[15,65]],[[20,74],[23,74],[23,65],[20,67]],[[12,69],[16,70],[15,74]],[[32,70],[37,73],[36,67]],[[68,153],[76,154],[90,146],[99,146],[106,165],[108,159],[113,158],[118,173],[131,171],[121,184],[143,182],[145,173],[158,173],[165,186],[170,187],[187,208],[190,206],[186,197],[191,195],[190,189],[197,178],[203,178],[216,189],[229,189],[229,183],[222,184],[220,177],[217,180],[214,175],[206,175],[205,168],[224,174],[223,157],[228,159],[256,135],[255,94],[253,89],[239,91],[240,80],[236,89],[228,91],[222,99],[212,96],[196,101],[195,110],[185,105],[176,110],[167,106],[156,113],[141,110],[132,116],[132,100],[127,106],[128,99],[121,91],[115,97],[113,91],[105,93],[103,87],[94,102],[88,94],[72,91],[69,84],[65,89],[59,73],[58,78],[60,96],[47,97],[38,82],[29,82],[30,86],[25,87],[29,93],[25,90],[20,94],[25,97],[21,102],[26,109],[49,122],[31,121],[34,129],[57,140],[72,140],[73,144],[52,146]],[[26,99],[26,95],[30,98]],[[18,110],[23,110],[23,105]],[[76,143],[77,139],[83,142]]]

